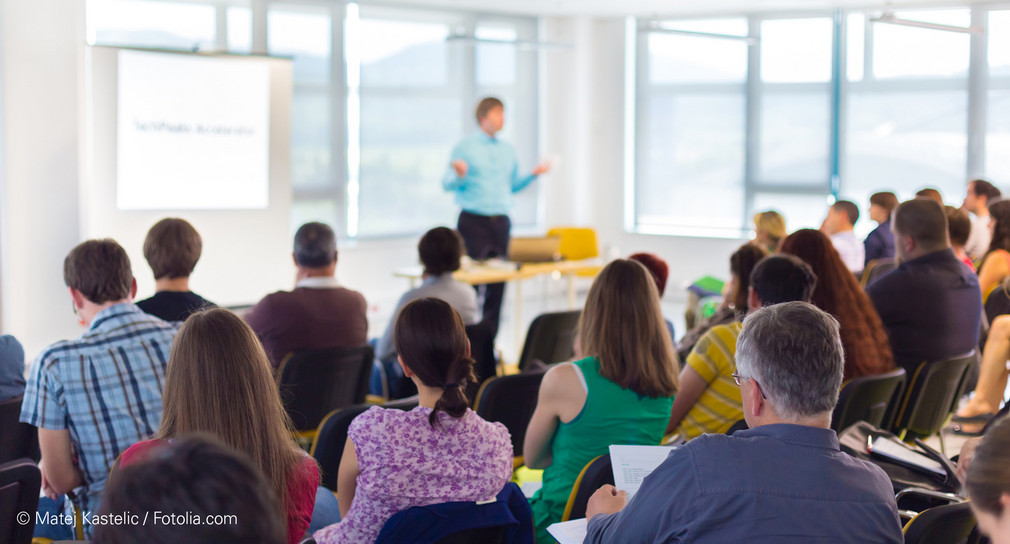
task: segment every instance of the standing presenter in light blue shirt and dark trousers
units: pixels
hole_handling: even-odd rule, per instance
[[[461,141],[452,149],[449,171],[442,180],[445,191],[456,193],[456,202],[463,208],[459,229],[471,258],[483,260],[506,257],[512,222],[512,193],[518,193],[547,172],[546,162],[537,165],[528,176],[519,174],[515,149],[498,139],[496,134],[505,123],[502,101],[488,97],[477,105],[477,123],[481,129]],[[490,284],[483,291],[483,321],[498,334],[502,297],[505,284]]]

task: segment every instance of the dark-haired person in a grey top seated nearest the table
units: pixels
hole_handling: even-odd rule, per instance
[[[393,318],[386,327],[386,332],[376,346],[376,358],[382,364],[390,386],[390,396],[399,398],[399,389],[394,386],[404,379],[403,372],[396,361],[396,343],[393,341],[396,316],[408,303],[431,297],[443,300],[459,312],[463,322],[473,325],[479,321],[477,313],[477,293],[474,288],[452,279],[452,273],[460,269],[460,258],[463,256],[463,240],[460,235],[445,227],[435,227],[421,236],[417,244],[417,254],[424,273],[420,287],[411,289],[400,297],[396,304]],[[375,375],[375,372],[373,372]],[[375,390],[376,388],[373,388]],[[395,391],[394,391],[395,390]],[[380,394],[379,391],[373,393]]]

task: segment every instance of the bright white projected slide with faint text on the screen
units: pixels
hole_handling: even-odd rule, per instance
[[[119,209],[267,207],[270,67],[126,49],[118,65]]]

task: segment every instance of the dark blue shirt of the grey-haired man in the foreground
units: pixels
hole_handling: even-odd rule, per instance
[[[590,520],[585,542],[899,544],[893,494],[830,429],[705,434],[671,452],[624,510]]]

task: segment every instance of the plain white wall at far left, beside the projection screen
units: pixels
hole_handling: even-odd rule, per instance
[[[4,332],[27,356],[80,334],[63,259],[80,241],[84,2],[4,0]]]

